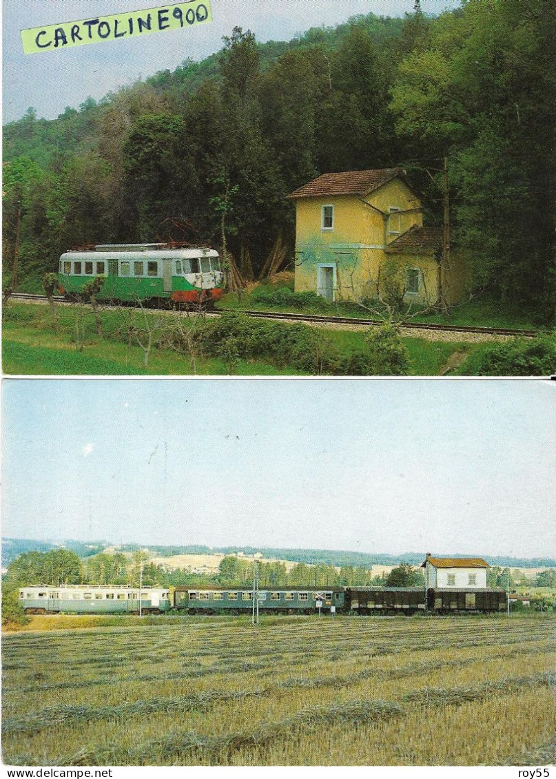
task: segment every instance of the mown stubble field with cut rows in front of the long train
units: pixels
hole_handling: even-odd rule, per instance
[[[551,616],[115,622],[4,637],[5,763],[553,758]]]

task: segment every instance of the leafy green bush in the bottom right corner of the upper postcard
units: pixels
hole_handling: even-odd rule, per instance
[[[480,376],[544,376],[556,373],[556,333],[519,338],[485,349],[477,363]]]

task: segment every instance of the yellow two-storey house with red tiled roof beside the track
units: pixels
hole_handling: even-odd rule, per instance
[[[296,292],[370,301],[395,287],[404,301],[432,305],[441,289],[449,302],[463,291],[463,274],[442,268],[442,228],[423,227],[401,168],[326,173],[288,198],[297,206]]]

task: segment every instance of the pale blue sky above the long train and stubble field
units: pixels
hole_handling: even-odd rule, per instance
[[[2,536],[554,557],[555,393],[4,379]]]

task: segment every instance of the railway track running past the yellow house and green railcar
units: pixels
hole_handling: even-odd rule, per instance
[[[27,292],[12,293],[12,298],[16,300],[31,300],[31,301],[46,301],[46,295],[30,294]],[[67,303],[65,298],[59,295],[54,296],[56,303]],[[107,305],[107,304],[103,304]],[[110,304],[109,304],[110,305]],[[213,315],[220,315],[223,312],[234,312],[236,309],[221,308],[220,311],[211,312]],[[309,324],[332,324],[332,325],[347,325],[347,326],[376,326],[382,324],[380,319],[354,319],[350,316],[320,316],[317,314],[290,314],[282,312],[265,312],[265,311],[250,311],[246,310],[244,313],[248,316],[255,317],[256,319],[273,319],[282,320],[287,322],[302,322]],[[504,327],[475,327],[465,325],[438,325],[433,323],[421,323],[421,322],[400,322],[399,325],[407,330],[431,330],[438,333],[473,333],[476,335],[498,335],[498,336],[520,336],[524,338],[533,338],[539,335],[538,330],[511,330]]]

